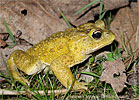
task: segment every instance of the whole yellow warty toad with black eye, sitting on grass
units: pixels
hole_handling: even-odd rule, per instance
[[[13,78],[22,83],[29,84],[17,68],[28,75],[45,68],[46,71],[50,69],[68,88],[74,80],[70,67],[83,62],[90,53],[112,43],[114,39],[115,35],[105,29],[102,20],[98,20],[52,34],[27,51],[16,50],[10,55],[7,65]],[[73,89],[87,89],[86,85],[75,80]]]

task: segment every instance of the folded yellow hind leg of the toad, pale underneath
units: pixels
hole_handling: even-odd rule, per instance
[[[22,84],[28,85],[29,82],[22,77],[18,69],[28,75],[31,75],[38,71],[41,71],[44,68],[44,64],[40,60],[33,56],[30,56],[28,53],[22,50],[16,50],[10,55],[7,66],[14,79],[20,81]]]

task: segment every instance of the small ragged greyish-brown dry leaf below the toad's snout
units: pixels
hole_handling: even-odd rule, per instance
[[[124,63],[119,59],[111,62],[103,62],[102,65],[104,71],[102,72],[100,80],[111,84],[116,92],[121,92],[126,83]],[[117,77],[114,77],[115,75],[117,75]]]

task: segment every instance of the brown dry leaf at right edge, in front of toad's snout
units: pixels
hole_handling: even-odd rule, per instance
[[[122,46],[122,34],[124,34],[126,46],[129,42],[133,51],[139,48],[139,23],[138,23],[138,6],[136,2],[131,2],[131,7],[121,8],[111,23],[111,30],[116,35],[119,47]],[[129,40],[129,41],[128,41]],[[129,51],[129,48],[128,48]]]

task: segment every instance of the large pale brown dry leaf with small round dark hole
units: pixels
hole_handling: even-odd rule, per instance
[[[51,10],[47,2],[43,2],[43,5]],[[67,28],[64,20],[60,20],[58,16],[48,12],[47,9],[43,9],[37,0],[6,2],[0,6],[0,32],[7,32],[3,24],[3,18],[5,18],[14,35],[17,30],[21,30],[22,38],[36,44],[45,39],[46,36]]]

